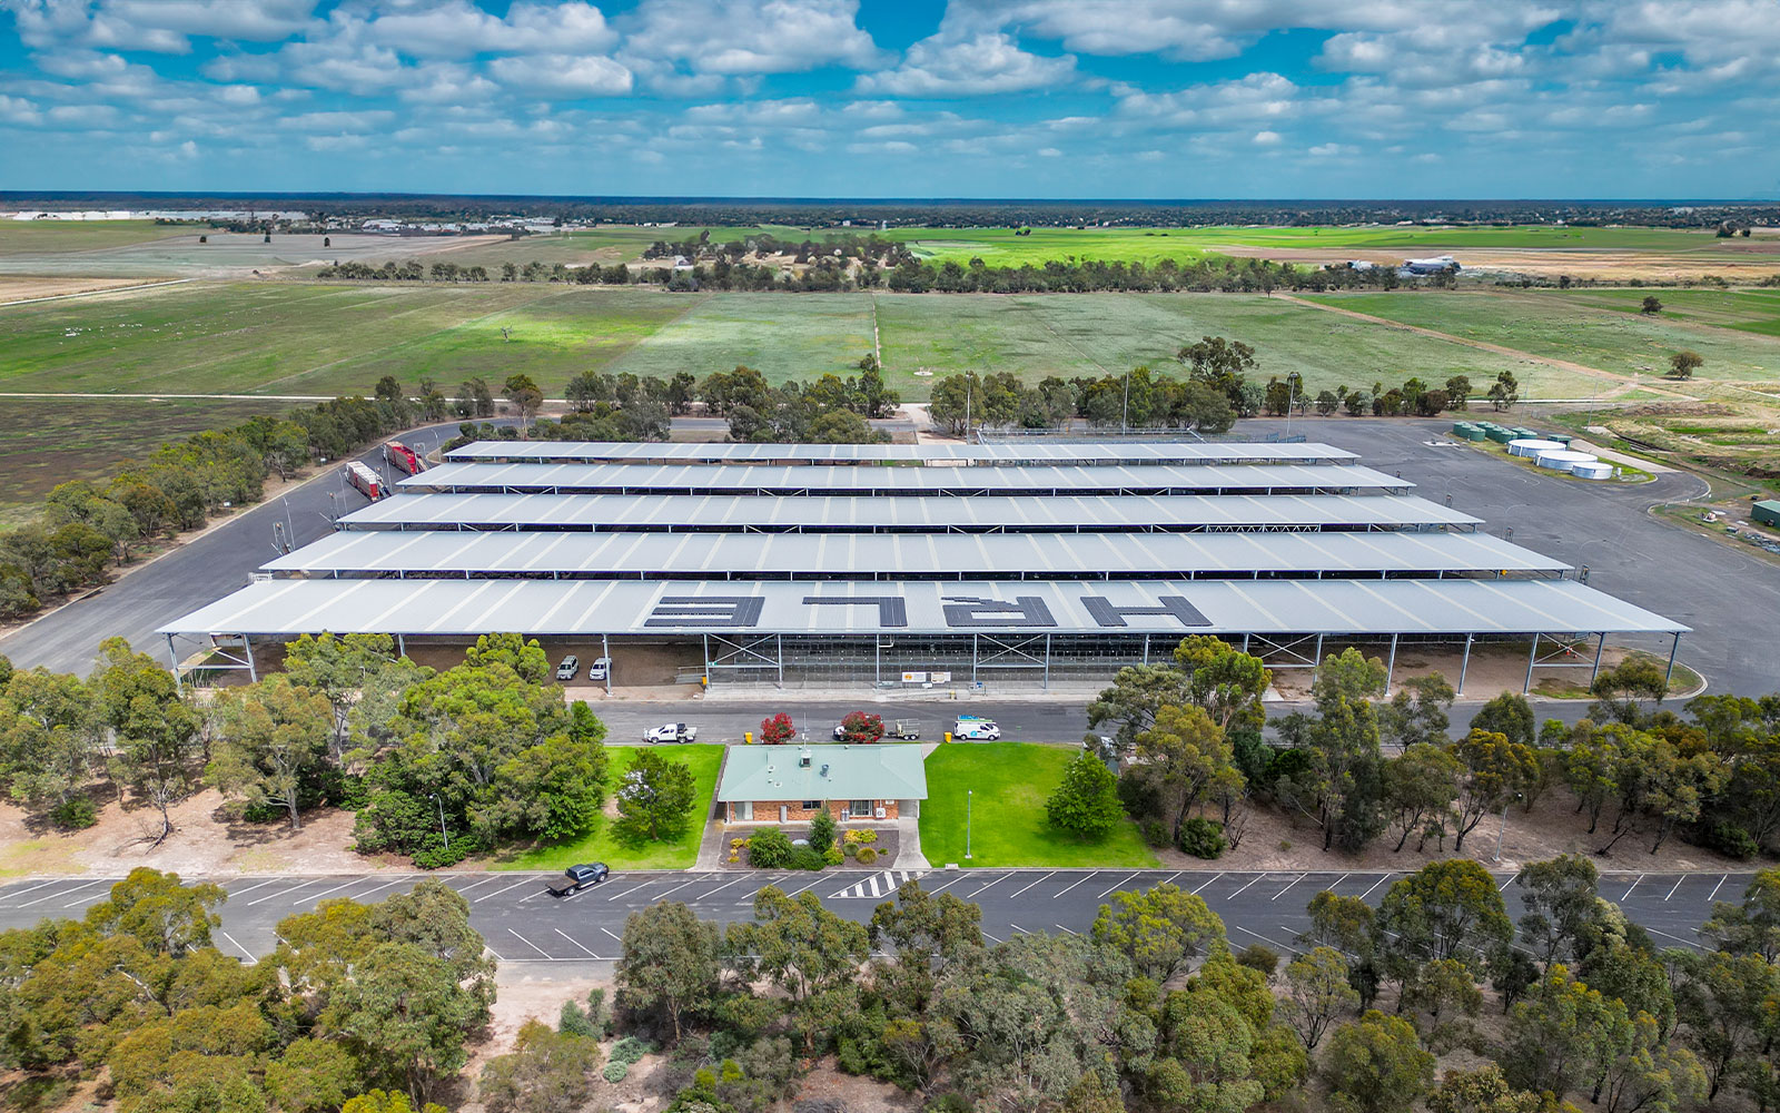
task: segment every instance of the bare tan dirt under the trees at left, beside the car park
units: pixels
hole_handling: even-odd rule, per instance
[[[208,789],[173,808],[173,835],[160,846],[160,812],[116,800],[84,832],[37,825],[11,803],[0,803],[0,878],[25,874],[123,876],[137,865],[183,876],[244,873],[374,873],[408,869],[400,860],[349,849],[352,814],[315,810],[303,830],[285,823],[240,823],[222,810],[222,794]]]

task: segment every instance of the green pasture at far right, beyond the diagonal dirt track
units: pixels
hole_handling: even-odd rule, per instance
[[[1655,294],[1666,301],[1670,292]],[[1671,354],[1691,349],[1705,358],[1696,379],[1780,376],[1780,340],[1771,337],[1595,308],[1565,290],[1326,294],[1312,301],[1616,374],[1663,376]]]

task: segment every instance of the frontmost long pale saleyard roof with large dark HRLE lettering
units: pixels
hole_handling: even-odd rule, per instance
[[[167,634],[1549,634],[1687,627],[1575,581],[267,581]]]

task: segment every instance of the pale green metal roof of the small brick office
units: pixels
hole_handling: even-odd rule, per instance
[[[717,800],[926,800],[920,746],[730,746]]]

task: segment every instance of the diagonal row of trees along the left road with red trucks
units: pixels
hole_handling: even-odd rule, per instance
[[[395,379],[374,399],[342,397],[258,415],[226,429],[167,442],[126,461],[109,481],[57,484],[41,513],[0,536],[0,620],[101,584],[112,568],[224,508],[258,502],[269,475],[338,459],[415,424],[420,410]]]

